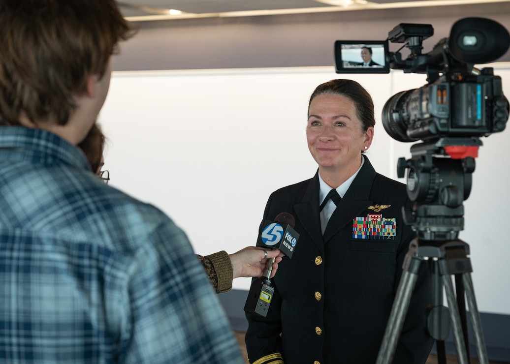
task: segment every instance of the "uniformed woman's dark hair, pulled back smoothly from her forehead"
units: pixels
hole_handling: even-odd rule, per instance
[[[323,94],[340,95],[347,97],[354,102],[356,115],[361,121],[361,128],[366,132],[369,126],[375,125],[374,102],[370,94],[359,83],[352,80],[338,79],[325,82],[314,90],[308,103],[308,116],[310,116],[310,105],[312,100]]]

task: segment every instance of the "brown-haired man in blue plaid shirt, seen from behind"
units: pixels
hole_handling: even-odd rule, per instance
[[[114,0],[0,1],[0,362],[243,362],[185,233],[76,147],[131,34]]]

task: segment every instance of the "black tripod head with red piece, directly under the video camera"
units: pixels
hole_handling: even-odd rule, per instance
[[[402,208],[402,216],[421,245],[455,240],[464,229],[463,201],[471,192],[474,159],[481,145],[475,137],[443,137],[414,144],[412,158],[398,160],[398,177],[408,170],[407,195],[415,201],[411,211]]]

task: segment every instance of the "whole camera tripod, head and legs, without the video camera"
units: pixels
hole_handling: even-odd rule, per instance
[[[471,191],[474,158],[480,145],[481,142],[473,138],[441,138],[436,142],[413,145],[413,158],[398,161],[398,177],[403,177],[405,169],[409,169],[407,195],[415,201],[412,212],[402,209],[403,221],[417,231],[417,238],[411,241],[404,258],[403,273],[377,364],[386,364],[393,359],[418,279],[418,269],[424,262],[429,265],[432,284],[432,308],[427,313],[426,326],[430,337],[436,340],[439,363],[446,364],[444,340],[450,331],[450,322],[458,362],[469,363],[465,294],[478,359],[481,364],[488,363],[471,280],[469,245],[457,238],[458,232],[464,228],[463,201]],[[451,275],[455,276],[456,300]],[[448,308],[443,306],[443,288]]]

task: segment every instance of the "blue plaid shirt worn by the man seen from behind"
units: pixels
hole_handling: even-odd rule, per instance
[[[0,126],[0,290],[0,362],[244,362],[185,233],[38,129]]]

